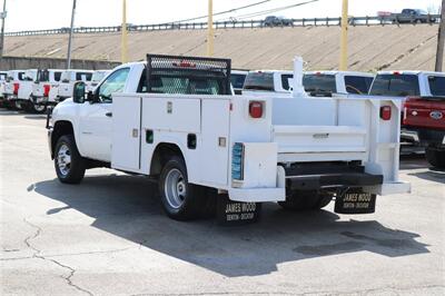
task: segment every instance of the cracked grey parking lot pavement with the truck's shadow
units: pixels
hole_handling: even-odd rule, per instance
[[[220,227],[170,220],[144,177],[60,184],[43,116],[0,109],[0,135],[1,295],[445,295],[445,172],[422,156],[374,215],[268,204]]]

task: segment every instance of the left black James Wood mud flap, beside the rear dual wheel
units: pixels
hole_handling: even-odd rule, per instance
[[[233,201],[227,195],[218,196],[217,219],[222,226],[237,226],[256,223],[260,218],[260,203]]]

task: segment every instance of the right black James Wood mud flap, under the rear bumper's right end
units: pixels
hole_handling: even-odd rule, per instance
[[[350,188],[339,190],[335,199],[334,211],[337,214],[373,214],[375,213],[376,195]]]

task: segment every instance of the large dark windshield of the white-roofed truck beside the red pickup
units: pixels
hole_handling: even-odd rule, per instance
[[[416,75],[378,75],[374,80],[369,95],[389,97],[419,96],[418,77]]]

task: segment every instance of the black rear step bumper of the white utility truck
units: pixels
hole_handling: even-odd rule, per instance
[[[362,166],[300,167],[286,169],[286,187],[289,190],[319,190],[340,187],[378,186],[383,175],[365,172]]]

